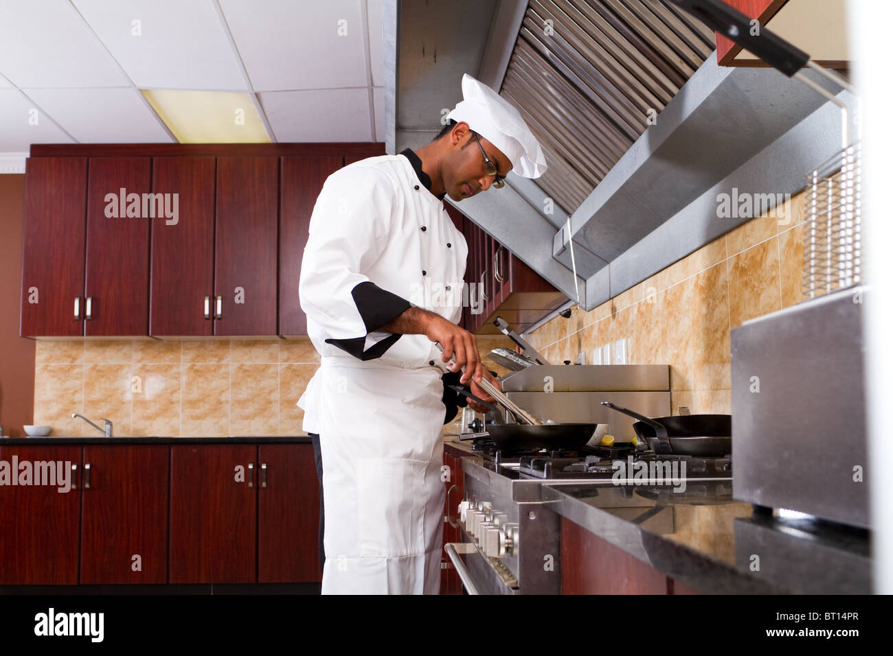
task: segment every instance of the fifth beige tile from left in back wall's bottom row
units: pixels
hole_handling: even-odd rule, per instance
[[[279,367],[230,364],[230,435],[278,434]]]

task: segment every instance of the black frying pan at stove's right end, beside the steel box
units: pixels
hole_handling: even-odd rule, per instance
[[[731,415],[691,414],[650,419],[610,401],[603,401],[602,405],[638,419],[632,428],[655,453],[702,457],[731,453]]]

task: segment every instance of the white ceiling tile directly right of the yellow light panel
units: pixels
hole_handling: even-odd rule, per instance
[[[370,141],[369,91],[316,89],[258,94],[280,142]]]

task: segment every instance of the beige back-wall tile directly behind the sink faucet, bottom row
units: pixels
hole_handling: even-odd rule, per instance
[[[113,436],[131,436],[133,415],[132,364],[88,364],[84,367],[84,415],[96,425],[109,419]],[[81,435],[100,435],[85,427]]]

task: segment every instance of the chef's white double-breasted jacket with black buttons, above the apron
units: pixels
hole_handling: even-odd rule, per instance
[[[331,174],[313,207],[299,292],[321,360],[410,370],[434,362],[445,371],[428,337],[374,328],[410,303],[458,323],[467,256],[463,234],[406,155],[371,157]],[[316,378],[297,403],[307,433],[319,433]]]

